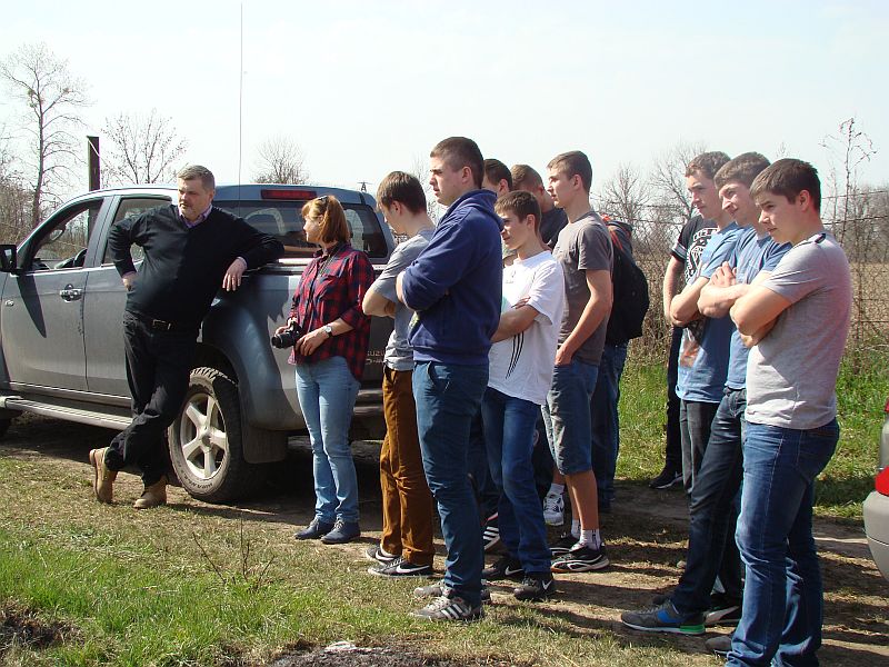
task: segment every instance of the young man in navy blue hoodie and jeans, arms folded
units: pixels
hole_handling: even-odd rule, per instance
[[[440,595],[414,615],[476,620],[483,557],[467,452],[500,322],[501,221],[493,210],[497,196],[481,189],[483,158],[475,141],[444,139],[429,157],[429,182],[448,210],[429,246],[398,277],[397,290],[417,312],[410,332],[417,428],[448,557]]]

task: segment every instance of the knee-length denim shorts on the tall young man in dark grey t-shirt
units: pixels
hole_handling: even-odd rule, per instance
[[[578,359],[552,371],[552,386],[543,405],[552,460],[562,475],[592,470],[590,398],[598,367]]]

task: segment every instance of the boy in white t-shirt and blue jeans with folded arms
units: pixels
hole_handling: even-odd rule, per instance
[[[495,205],[501,236],[516,261],[503,269],[503,311],[491,339],[488,389],[481,401],[488,462],[500,491],[500,539],[507,554],[486,579],[519,578],[521,600],[556,593],[543,508],[531,452],[540,406],[547,400],[565,305],[559,262],[540,237],[540,206],[530,192],[510,192]]]

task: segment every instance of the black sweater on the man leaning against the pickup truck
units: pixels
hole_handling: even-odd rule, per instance
[[[283,246],[241,218],[216,207],[189,228],[176,205],[124,218],[111,227],[108,246],[118,272],[134,271],[130,246],[141,246],[144,261],[127,297],[127,310],[143,317],[197,328],[237,257],[253,269],[283,255]]]

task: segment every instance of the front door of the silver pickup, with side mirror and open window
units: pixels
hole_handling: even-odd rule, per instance
[[[20,247],[22,270],[6,281],[0,318],[10,385],[19,390],[87,389],[84,263],[103,206],[102,197],[66,206]]]

